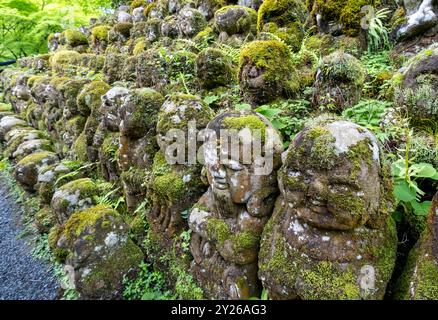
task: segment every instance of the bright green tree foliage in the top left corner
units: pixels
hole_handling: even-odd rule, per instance
[[[84,25],[110,0],[0,0],[0,60],[47,52],[50,34]]]

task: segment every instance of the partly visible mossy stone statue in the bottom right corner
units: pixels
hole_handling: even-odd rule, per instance
[[[427,227],[409,253],[395,298],[438,300],[438,193],[432,201]]]

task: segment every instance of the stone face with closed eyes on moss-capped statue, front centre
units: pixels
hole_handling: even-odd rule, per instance
[[[273,150],[259,155],[248,153],[254,151],[257,145],[266,151],[263,146],[267,128],[273,129],[264,117],[254,112],[228,112],[216,117],[207,126],[220,139],[218,144],[207,144],[204,149],[208,182],[217,199],[227,198],[234,204],[245,204],[258,190],[276,184],[275,175],[256,174],[256,168],[263,166],[264,161],[270,161],[269,155],[272,156],[273,170],[280,163],[282,143],[275,130],[272,131],[274,136],[269,136]],[[240,138],[240,143],[236,145],[239,147],[236,157],[230,152],[233,144],[226,143],[220,136],[221,130],[227,129],[230,135],[234,131]],[[253,149],[245,149],[248,145]]]

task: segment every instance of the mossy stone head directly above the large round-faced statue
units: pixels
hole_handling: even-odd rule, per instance
[[[314,82],[315,108],[342,111],[359,102],[365,80],[362,63],[348,53],[336,51],[323,58]]]

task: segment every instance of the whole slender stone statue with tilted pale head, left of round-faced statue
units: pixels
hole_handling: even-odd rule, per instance
[[[282,141],[268,120],[250,111],[222,113],[207,129],[211,130],[208,141],[213,142],[204,145],[210,186],[190,212],[191,273],[206,298],[255,297],[260,293],[260,235],[278,195],[276,169],[281,163]],[[213,132],[219,139],[222,129],[234,130],[243,138],[237,143],[240,160],[233,157],[228,143],[223,143],[224,137],[212,139]],[[258,152],[245,152],[244,146],[251,142],[253,151],[262,146],[265,158]],[[272,161],[272,172],[258,172],[257,168],[268,161]]]

